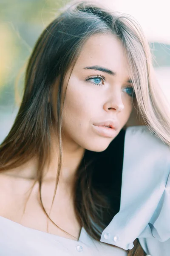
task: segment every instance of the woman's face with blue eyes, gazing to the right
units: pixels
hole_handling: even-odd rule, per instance
[[[127,67],[123,46],[116,36],[97,34],[86,41],[66,90],[65,142],[99,152],[119,134],[133,107],[133,85]],[[109,120],[116,130],[97,127],[111,124]]]

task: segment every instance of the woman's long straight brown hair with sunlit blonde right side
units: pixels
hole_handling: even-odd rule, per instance
[[[65,97],[62,97],[62,84],[68,70],[71,74],[85,41],[96,33],[113,33],[125,46],[139,110],[150,129],[170,145],[170,121],[163,112],[164,102],[160,105],[161,101],[158,101],[159,86],[153,83],[150,71],[151,57],[139,25],[130,17],[116,15],[97,6],[96,3],[87,4],[82,1],[68,6],[44,29],[35,44],[26,69],[25,87],[19,111],[10,132],[0,145],[1,172],[17,168],[37,157],[37,177],[34,184],[37,181],[39,183],[40,201],[47,216],[41,198],[42,170],[50,163],[51,129],[53,129],[59,141],[55,196],[62,168],[62,110],[65,100]],[[58,85],[56,85],[57,79]],[[54,88],[57,90],[55,111],[51,103]],[[118,146],[120,143],[118,144],[117,141],[122,140],[123,148],[123,137],[122,130],[108,147],[107,154],[86,150],[76,172],[74,207],[77,219],[87,233],[97,241],[100,241],[102,230],[119,212],[121,189],[119,173],[122,169],[123,151],[117,150],[120,148]],[[111,154],[108,154],[108,152],[113,154],[114,148],[116,148],[116,159],[119,160],[117,165],[114,163],[115,171],[111,168]],[[110,168],[105,168],[107,169],[105,182],[101,161],[110,165]],[[117,177],[119,186],[116,183],[109,183],[109,177],[112,181]],[[48,218],[51,220],[49,216]],[[134,245],[132,250],[128,250],[128,256],[146,255],[138,239],[134,241]]]

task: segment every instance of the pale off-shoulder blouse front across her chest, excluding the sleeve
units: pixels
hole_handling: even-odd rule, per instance
[[[91,239],[83,227],[79,241],[75,241],[0,217],[0,256],[127,256],[127,253]]]

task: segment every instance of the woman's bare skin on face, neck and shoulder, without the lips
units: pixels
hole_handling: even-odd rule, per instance
[[[112,70],[115,75],[85,68],[92,66]],[[74,174],[85,149],[104,151],[114,139],[96,134],[92,129],[93,123],[116,119],[119,122],[119,129],[115,137],[127,121],[129,125],[142,124],[139,119],[130,121],[130,114],[134,117],[136,112],[130,96],[133,85],[129,82],[127,70],[128,61],[120,41],[110,34],[94,35],[83,46],[68,83],[63,116],[63,168],[50,217],[59,227],[77,239],[80,227],[74,212],[71,193]],[[98,77],[94,78],[97,75]],[[54,91],[53,104],[55,102]],[[54,195],[58,161],[57,139],[54,134],[52,137],[54,153],[49,169],[45,169],[46,175],[42,183],[42,202],[48,213]],[[33,183],[31,178],[35,176],[36,165],[36,159],[32,159],[17,169],[0,174],[0,195],[3,194],[3,198],[0,198],[0,216],[26,227],[73,239],[51,222],[47,231],[47,217],[37,199],[38,184],[34,187],[23,215],[23,200],[28,196],[27,191]]]

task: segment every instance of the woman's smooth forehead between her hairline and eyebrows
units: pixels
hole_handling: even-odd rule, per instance
[[[124,47],[115,35],[96,34],[91,36],[82,47],[74,71],[92,70],[92,67],[96,66],[110,70],[111,75],[115,73],[120,76],[128,76],[128,60]]]

